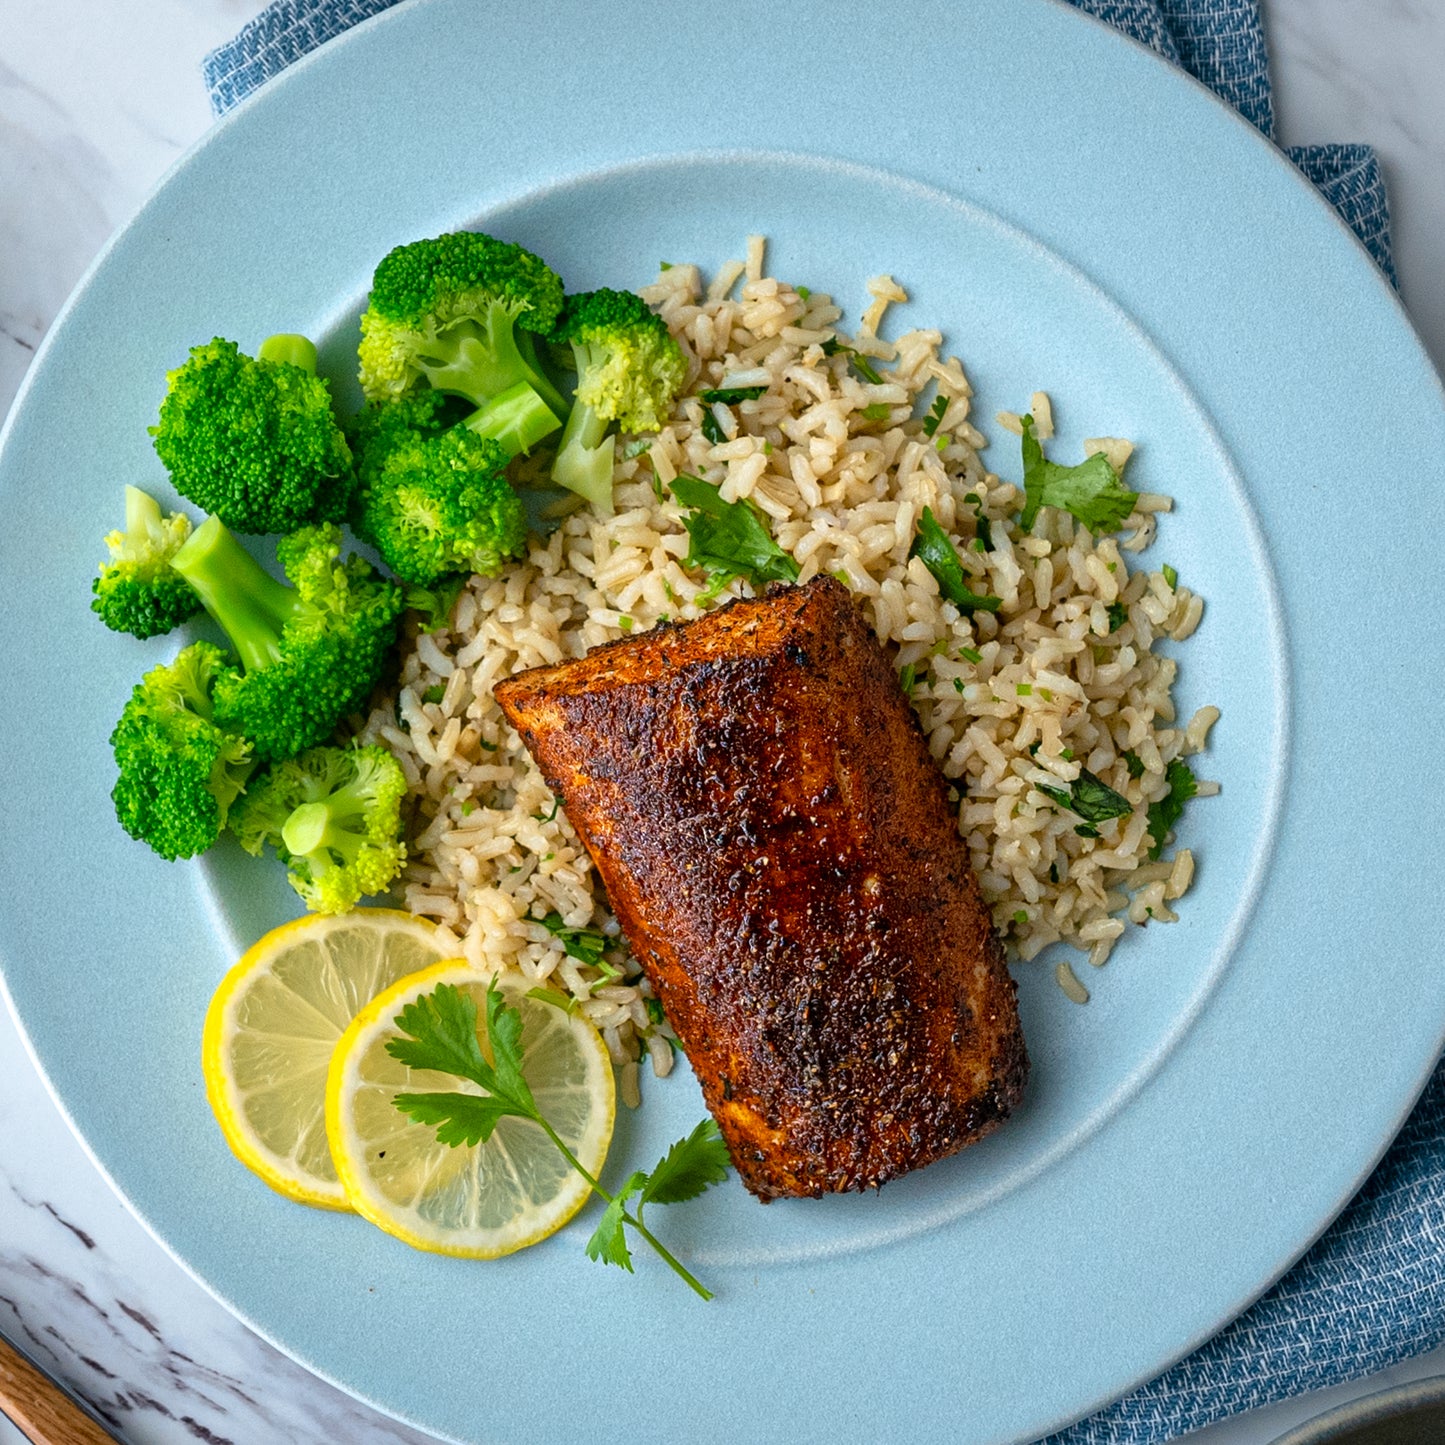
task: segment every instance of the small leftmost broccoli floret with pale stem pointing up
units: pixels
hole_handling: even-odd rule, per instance
[[[111,629],[133,637],[159,637],[201,610],[191,584],[171,558],[191,535],[191,519],[165,514],[139,487],[126,488],[126,530],[105,538],[110,561],[91,582],[91,611]]]

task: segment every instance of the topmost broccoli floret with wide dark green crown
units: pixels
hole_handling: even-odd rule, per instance
[[[562,282],[532,251],[480,231],[397,246],[376,269],[361,316],[361,390],[396,400],[426,384],[483,406],[519,383],[561,418],[535,335],[562,309]]]

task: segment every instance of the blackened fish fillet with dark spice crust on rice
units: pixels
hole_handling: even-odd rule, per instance
[[[744,1183],[864,1189],[1007,1117],[1013,980],[848,592],[775,587],[499,683]]]

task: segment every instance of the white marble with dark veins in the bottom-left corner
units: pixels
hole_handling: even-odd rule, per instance
[[[0,1069],[0,1335],[131,1445],[428,1439],[292,1364],[171,1261],[71,1137],[3,1013]]]

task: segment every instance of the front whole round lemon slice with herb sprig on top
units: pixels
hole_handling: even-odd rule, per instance
[[[487,978],[461,959],[373,998],[331,1061],[327,1133],[357,1214],[419,1250],[496,1259],[559,1230],[590,1189],[530,1120],[503,1118],[486,1143],[452,1149],[392,1103],[399,1092],[480,1092],[451,1074],[409,1069],[386,1052],[399,1036],[392,1020],[438,984],[470,993],[478,1020],[486,1019]],[[522,1014],[522,1074],[538,1108],[595,1179],[617,1107],[607,1046],[585,1019],[527,998],[520,987],[503,985],[503,994]]]

